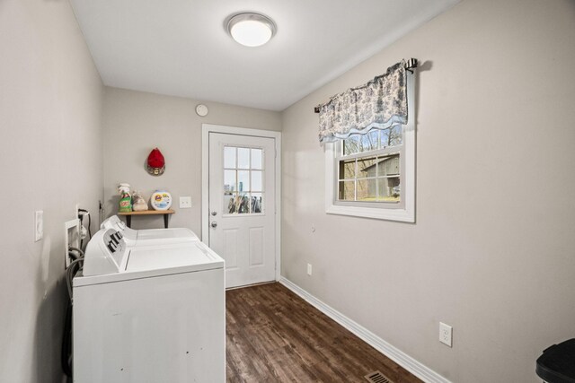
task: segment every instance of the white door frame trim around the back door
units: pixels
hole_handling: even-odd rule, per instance
[[[209,246],[209,134],[252,135],[273,138],[275,144],[275,256],[276,281],[281,276],[281,132],[247,127],[201,125],[201,241]]]

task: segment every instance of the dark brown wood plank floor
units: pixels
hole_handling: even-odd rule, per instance
[[[228,382],[419,382],[279,283],[226,292]]]

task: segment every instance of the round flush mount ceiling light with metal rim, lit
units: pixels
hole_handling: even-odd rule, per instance
[[[229,17],[227,32],[246,47],[260,47],[276,34],[276,24],[260,13],[237,13]]]

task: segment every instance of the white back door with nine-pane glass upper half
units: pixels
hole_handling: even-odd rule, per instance
[[[275,140],[210,132],[209,247],[226,287],[275,280]]]

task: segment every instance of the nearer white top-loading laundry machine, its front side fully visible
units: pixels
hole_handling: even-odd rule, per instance
[[[202,242],[88,243],[73,280],[74,381],[224,382],[224,260]]]

